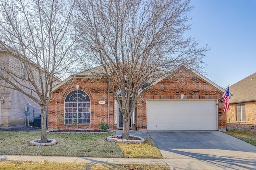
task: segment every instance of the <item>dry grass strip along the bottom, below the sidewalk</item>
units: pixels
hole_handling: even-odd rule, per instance
[[[169,170],[167,165],[116,165],[78,162],[0,161],[1,170]]]

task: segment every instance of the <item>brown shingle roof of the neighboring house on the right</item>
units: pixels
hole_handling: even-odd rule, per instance
[[[230,103],[256,101],[256,72],[229,87]]]

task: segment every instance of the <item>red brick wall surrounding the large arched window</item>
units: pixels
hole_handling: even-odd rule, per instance
[[[66,95],[76,90],[83,90],[90,97],[91,102],[91,123],[90,124],[64,124],[64,101]],[[107,81],[99,82],[96,79],[77,78],[73,82],[65,84],[52,93],[51,102],[48,106],[48,129],[99,129],[99,123],[104,119],[108,123],[108,94],[106,92]],[[99,104],[104,100],[105,104]],[[110,127],[114,124],[114,105],[110,95]]]

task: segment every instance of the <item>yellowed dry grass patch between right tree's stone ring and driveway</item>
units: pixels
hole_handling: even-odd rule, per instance
[[[123,144],[118,146],[124,152],[126,158],[163,158],[154,141],[145,137],[145,143]]]

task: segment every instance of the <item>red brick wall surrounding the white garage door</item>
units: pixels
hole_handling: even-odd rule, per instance
[[[180,94],[184,94],[184,100],[186,99],[216,99],[218,100],[218,128],[226,129],[226,114],[223,113],[224,103],[220,102],[222,92],[208,84],[201,78],[198,78],[193,73],[187,73],[183,75],[182,80],[172,75],[160,81],[158,84],[148,89],[144,94],[140,96],[140,100],[137,102],[137,127],[138,129],[146,129],[146,100],[147,99],[162,99],[172,100],[180,99]],[[144,103],[142,103],[144,99]]]

